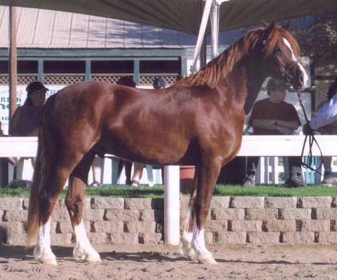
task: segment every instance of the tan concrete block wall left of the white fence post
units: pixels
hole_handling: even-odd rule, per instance
[[[28,199],[0,199],[0,244],[25,245]],[[83,222],[92,244],[158,244],[163,241],[163,199],[85,198]],[[64,200],[50,225],[53,245],[75,241]]]

